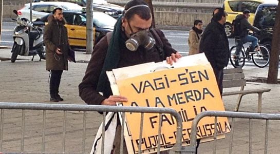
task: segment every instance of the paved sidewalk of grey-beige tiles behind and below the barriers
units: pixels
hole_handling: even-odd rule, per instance
[[[0,60],[9,59],[11,49],[0,49]],[[90,59],[90,54],[76,52],[78,62],[86,62]],[[49,102],[49,72],[45,70],[45,61],[39,62],[36,56],[31,62],[32,56],[18,56],[15,63],[10,60],[0,62],[0,102],[26,102],[26,103],[51,103]],[[82,81],[87,63],[69,63],[69,71],[62,75],[60,93],[65,99],[63,104],[85,104],[79,97],[78,85]],[[231,67],[231,66],[229,66]],[[247,78],[262,77],[266,78],[268,67],[244,67]],[[280,76],[280,73],[278,74]],[[280,113],[280,86],[264,83],[248,83],[246,89],[267,87],[271,91],[263,94],[264,113]],[[227,91],[229,89],[226,89]],[[223,98],[225,108],[233,111],[235,108],[236,96]],[[240,111],[257,111],[257,94],[245,95],[242,99]],[[4,114],[4,135],[3,151],[20,151],[21,141],[21,115],[18,110],[5,110]],[[39,115],[39,116],[38,116]],[[42,112],[26,112],[26,133],[25,133],[25,151],[41,151],[41,133],[42,133]],[[46,151],[47,153],[61,152],[62,145],[62,119],[63,112],[47,111],[47,129],[46,129]],[[102,116],[98,113],[88,113],[86,123],[86,153],[89,153],[95,133],[100,125]],[[66,153],[81,153],[82,147],[82,123],[83,113],[71,111],[67,114],[67,132],[66,132]],[[280,151],[278,146],[280,134],[279,122],[270,122],[269,126],[269,151],[268,153],[277,153]],[[233,143],[233,153],[248,153],[249,130],[248,120],[236,120],[234,126],[235,136]],[[253,153],[264,153],[264,132],[265,121],[253,121]],[[54,133],[55,132],[55,133]],[[229,136],[226,139],[218,141],[217,153],[228,153]],[[202,143],[199,147],[199,153],[212,153],[212,142]]]

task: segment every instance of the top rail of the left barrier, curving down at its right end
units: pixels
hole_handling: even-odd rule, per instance
[[[174,153],[181,153],[181,139],[182,139],[182,118],[180,114],[172,109],[172,108],[162,108],[162,107],[124,107],[124,106],[105,106],[105,105],[78,105],[78,104],[42,104],[42,103],[9,103],[9,102],[0,102],[1,109],[1,123],[0,123],[0,149],[2,149],[2,141],[3,141],[3,109],[21,109],[23,110],[23,130],[22,130],[22,147],[21,151],[23,152],[23,138],[24,138],[24,116],[25,110],[43,110],[43,116],[46,116],[46,110],[61,110],[64,111],[64,123],[63,136],[65,137],[65,119],[66,112],[65,111],[99,111],[99,112],[139,112],[139,113],[168,113],[175,117],[177,121],[177,136],[176,136],[176,144],[173,147]],[[84,113],[85,114],[85,113]],[[84,115],[85,116],[85,115]],[[103,115],[105,117],[105,114]],[[43,118],[44,120],[44,118]],[[45,120],[43,121],[45,123]],[[43,124],[45,125],[45,124]],[[43,126],[44,127],[44,126]],[[43,130],[45,133],[45,130]],[[43,141],[44,141],[43,134]],[[103,140],[104,141],[104,140]],[[84,141],[83,141],[84,142]],[[44,142],[43,142],[44,143]],[[63,145],[65,145],[65,141],[63,140]],[[84,143],[83,143],[84,145]],[[103,149],[103,148],[102,148]],[[63,152],[65,147],[63,147]],[[84,149],[83,149],[84,150]],[[44,153],[44,145],[42,145],[42,152]]]

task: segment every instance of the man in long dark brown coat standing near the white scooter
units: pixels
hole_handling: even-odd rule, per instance
[[[50,101],[59,102],[59,85],[63,70],[68,70],[68,35],[61,8],[53,10],[44,31],[46,70],[50,71]]]

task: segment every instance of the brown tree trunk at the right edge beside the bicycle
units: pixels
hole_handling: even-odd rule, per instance
[[[278,3],[278,8],[280,4]],[[272,46],[270,55],[270,64],[268,69],[267,83],[277,84],[278,67],[280,53],[280,9],[276,11],[275,25],[272,35]]]

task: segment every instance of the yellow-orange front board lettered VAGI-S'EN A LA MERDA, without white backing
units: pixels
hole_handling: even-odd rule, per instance
[[[190,140],[191,123],[195,116],[207,110],[224,111],[215,75],[210,65],[172,68],[133,78],[117,80],[120,95],[128,98],[123,106],[174,108],[183,120],[182,141]],[[127,113],[126,120],[133,148],[138,149],[140,113]],[[159,114],[144,114],[141,149],[157,147]],[[218,118],[218,134],[229,132],[227,118]],[[197,138],[214,134],[214,118],[203,118],[197,127]],[[161,145],[176,141],[176,121],[162,115]]]

